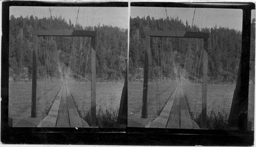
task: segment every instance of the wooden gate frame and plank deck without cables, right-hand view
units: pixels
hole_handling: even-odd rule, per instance
[[[204,52],[204,68],[203,68],[203,101],[202,101],[202,125],[206,125],[206,88],[207,88],[207,39],[209,33],[200,32],[188,32],[188,31],[146,31],[146,51],[145,51],[145,63],[144,63],[144,81],[143,81],[143,98],[142,98],[142,113],[139,119],[130,119],[128,124],[130,127],[152,127],[152,128],[182,128],[182,129],[198,129],[199,126],[195,121],[191,120],[187,104],[184,97],[184,91],[182,84],[178,83],[175,90],[170,95],[167,103],[161,111],[161,114],[151,122],[149,126],[144,118],[147,118],[147,99],[148,99],[148,72],[149,72],[149,59],[150,59],[150,46],[151,37],[178,37],[178,38],[202,38],[204,40],[203,52]],[[172,53],[172,51],[171,51]],[[172,54],[170,54],[172,56]],[[172,57],[173,58],[173,57]],[[192,58],[190,58],[192,59]],[[190,63],[188,61],[188,63]],[[169,71],[173,70],[171,68]],[[166,72],[166,71],[165,71]],[[167,71],[168,73],[168,71]],[[179,73],[180,74],[180,73]],[[180,81],[180,76],[179,81]],[[166,75],[166,77],[168,77]],[[206,127],[206,126],[204,126]]]

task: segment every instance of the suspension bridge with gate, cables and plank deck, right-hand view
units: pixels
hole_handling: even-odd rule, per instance
[[[193,22],[194,17],[193,16]],[[147,11],[148,13],[148,11]],[[158,12],[159,13],[159,12]],[[184,87],[182,86],[183,80],[185,78],[192,79],[191,77],[198,77],[200,61],[203,53],[203,100],[202,100],[202,127],[206,126],[206,89],[207,89],[207,40],[209,38],[209,33],[199,32],[198,28],[194,27],[191,31],[177,31],[175,26],[170,25],[168,22],[167,10],[165,8],[166,19],[163,20],[159,17],[155,22],[155,26],[150,26],[150,20],[147,18],[147,31],[145,34],[145,58],[144,58],[144,78],[143,78],[143,96],[142,96],[142,113],[141,118],[131,118],[128,121],[128,126],[130,127],[151,127],[151,128],[182,128],[182,129],[198,129],[199,126],[194,120],[190,118],[187,103],[184,96]],[[158,14],[159,15],[159,14]],[[156,16],[156,10],[155,10]],[[164,22],[165,21],[165,22]],[[198,19],[199,21],[199,19]],[[193,27],[192,22],[192,27]],[[152,22],[151,22],[152,24]],[[154,24],[154,23],[153,23]],[[172,30],[172,31],[170,31]],[[186,54],[185,63],[183,67],[177,67],[174,60],[173,46],[171,38],[190,38],[188,43],[188,53]],[[202,40],[203,39],[203,42]],[[154,40],[154,41],[152,41]],[[203,47],[202,47],[203,43]],[[151,48],[156,46],[155,49]],[[200,55],[198,55],[201,52]],[[157,58],[154,58],[154,55]],[[200,56],[199,62],[198,57]],[[151,59],[151,60],[150,60]],[[157,60],[156,60],[157,59]],[[155,72],[151,68],[158,67],[158,74],[153,74],[151,76],[149,72]],[[197,69],[197,70],[196,70]],[[185,72],[184,72],[185,71]],[[196,71],[198,74],[196,74]],[[159,116],[151,121],[148,117],[147,103],[148,103],[148,89],[152,89],[151,83],[148,80],[154,77],[155,79],[161,79],[158,83],[169,83],[168,87],[175,85],[176,88],[173,91],[165,92],[168,93],[167,101],[161,110]],[[153,78],[153,79],[154,79]],[[178,79],[178,82],[174,82]],[[196,79],[196,78],[194,78]],[[185,80],[184,80],[185,81]],[[153,80],[154,83],[154,80]],[[159,89],[159,88],[158,88]],[[171,90],[167,88],[166,90]],[[160,89],[161,91],[161,89]],[[155,98],[156,97],[156,98]],[[158,95],[154,96],[154,99],[159,99]],[[156,101],[156,100],[155,100]],[[150,122],[148,122],[150,121]]]

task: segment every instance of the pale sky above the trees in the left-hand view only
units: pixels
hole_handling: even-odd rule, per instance
[[[69,23],[69,19],[75,25],[78,7],[50,7],[52,16],[65,18]],[[37,16],[38,18],[50,17],[49,7],[29,7],[29,6],[12,6],[10,7],[10,15],[19,17]],[[128,26],[128,8],[127,7],[79,7],[77,23],[82,26],[96,26],[100,23],[127,29]]]

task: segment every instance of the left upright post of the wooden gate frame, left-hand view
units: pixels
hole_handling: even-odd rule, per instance
[[[33,65],[32,65],[32,103],[31,117],[36,116],[36,79],[37,79],[37,35],[33,35]]]

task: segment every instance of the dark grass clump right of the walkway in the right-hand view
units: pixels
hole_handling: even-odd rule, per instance
[[[215,112],[213,109],[206,114],[206,128],[211,130],[224,130],[228,121],[229,114],[225,111]],[[201,113],[191,115],[198,126],[201,128]]]

